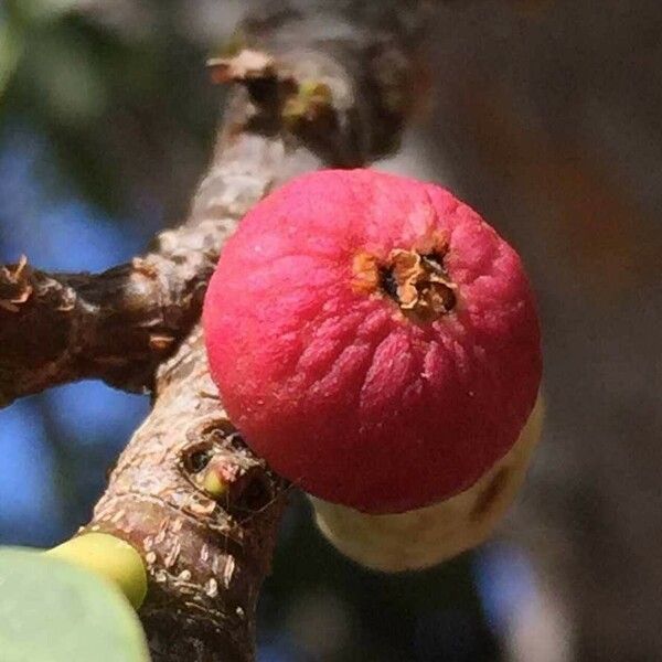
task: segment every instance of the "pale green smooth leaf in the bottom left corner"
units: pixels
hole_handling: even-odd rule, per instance
[[[32,549],[0,549],[2,662],[149,662],[136,612],[110,581]]]

